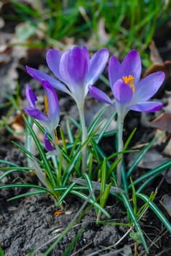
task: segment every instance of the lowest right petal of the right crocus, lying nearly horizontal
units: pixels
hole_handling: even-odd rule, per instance
[[[162,102],[140,102],[129,107],[130,110],[140,112],[155,112],[163,106]]]

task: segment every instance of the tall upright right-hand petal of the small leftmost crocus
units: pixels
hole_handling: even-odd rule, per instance
[[[42,81],[42,86],[47,93],[47,102],[48,102],[48,117],[50,119],[50,126],[52,129],[55,129],[59,124],[60,120],[60,108],[57,99],[57,94],[55,89],[47,81]]]

